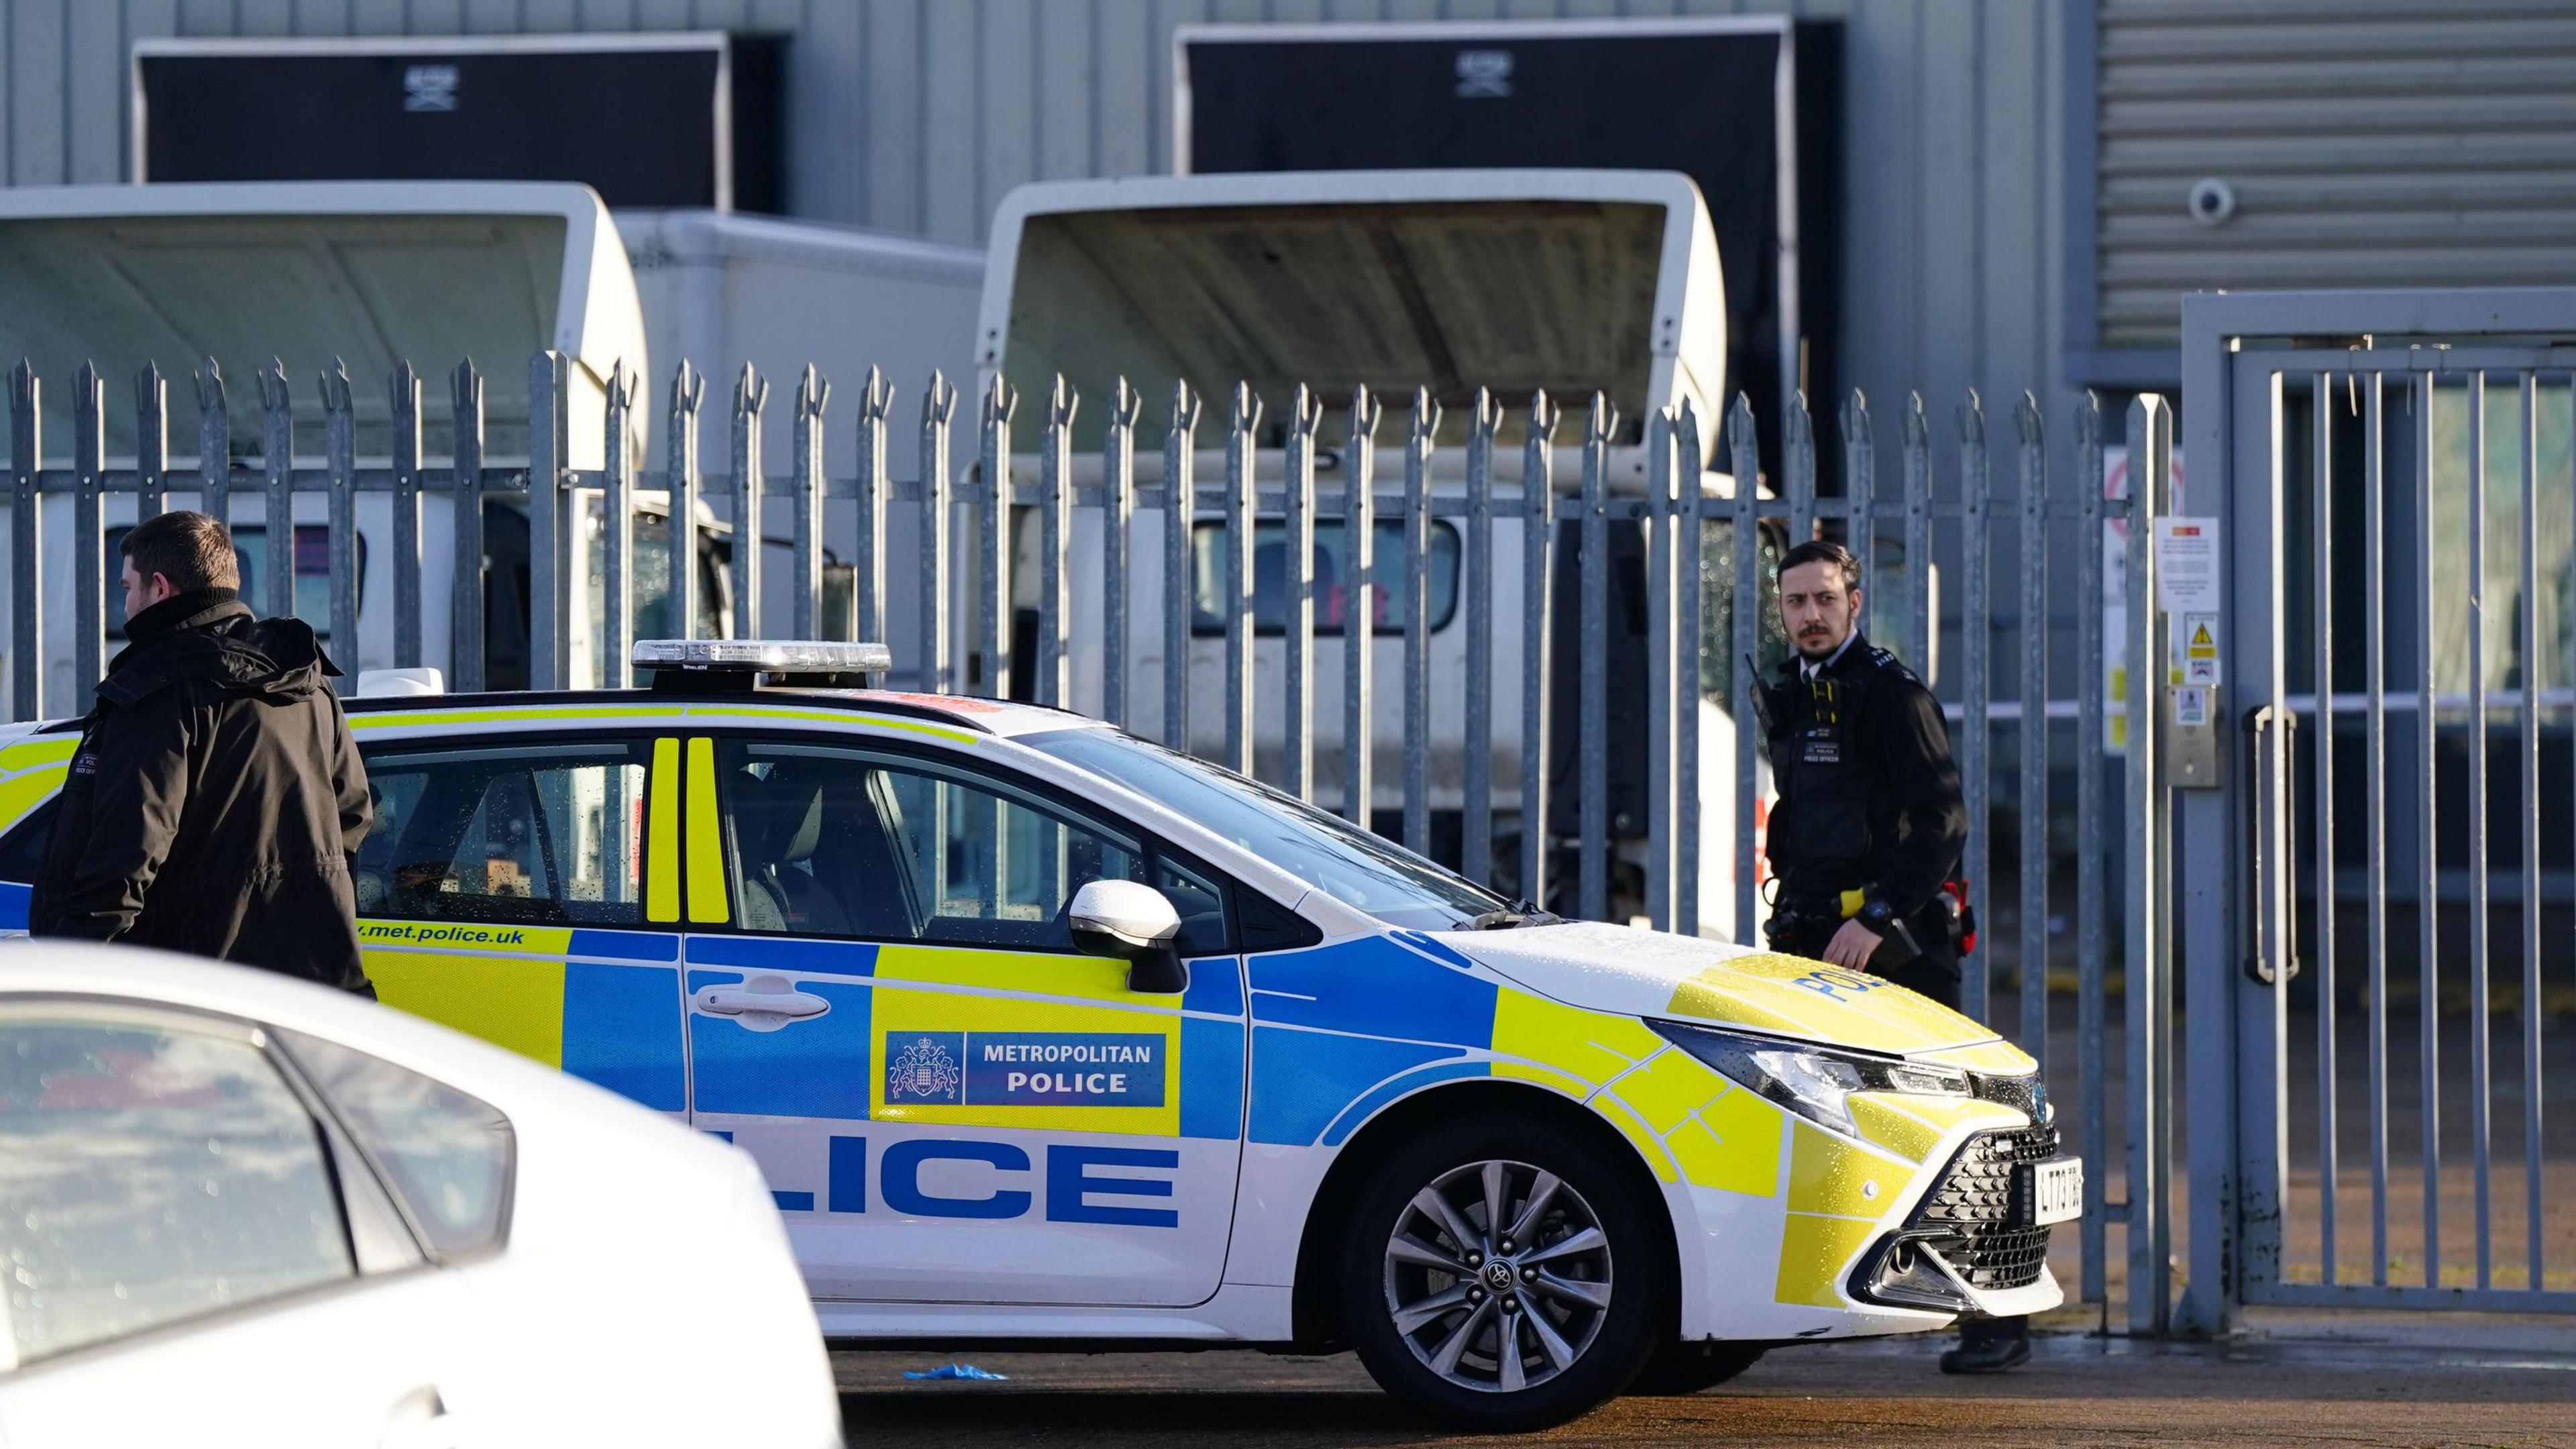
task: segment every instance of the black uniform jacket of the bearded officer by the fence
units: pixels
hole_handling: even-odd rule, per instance
[[[1780,792],[1770,864],[1783,892],[1816,902],[1870,887],[1899,918],[1914,918],[1968,841],[1940,701],[1857,632],[1814,681],[1798,678],[1795,657],[1780,673],[1765,696]]]

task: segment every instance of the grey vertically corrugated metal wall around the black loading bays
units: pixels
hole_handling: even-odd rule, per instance
[[[1842,356],[1888,423],[1906,389],[1947,423],[1971,384],[2058,376],[2053,0],[0,0],[0,157],[10,186],[124,178],[137,36],[786,31],[788,206],[974,242],[1020,180],[1170,165],[1180,23],[1677,8],[1847,21]],[[2063,431],[2071,394],[2043,402]]]

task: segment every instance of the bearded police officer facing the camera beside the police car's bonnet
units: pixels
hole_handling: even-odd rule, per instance
[[[1780,557],[1780,624],[1795,655],[1759,691],[1780,802],[1770,866],[1780,951],[1865,969],[1958,1006],[1968,920],[1950,887],[1968,810],[1940,701],[1860,634],[1860,559],[1824,539]],[[1942,1354],[1950,1374],[2030,1359],[2025,1318],[1978,1318]]]

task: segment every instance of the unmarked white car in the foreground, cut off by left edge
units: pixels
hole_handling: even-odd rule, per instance
[[[446,1026],[0,946],[0,1446],[840,1444],[752,1160]]]

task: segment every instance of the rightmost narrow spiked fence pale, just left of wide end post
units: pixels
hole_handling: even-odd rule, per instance
[[[2110,1163],[2105,1134],[2105,1006],[2107,972],[2102,962],[2102,400],[2092,392],[2076,402],[2076,1062],[2084,1101],[2084,1230],[2079,1232],[2081,1302],[2110,1310],[2105,1287],[2107,1222],[2102,1186]],[[2136,668],[2136,665],[2133,665]],[[2136,851],[2136,838],[2130,838]]]

